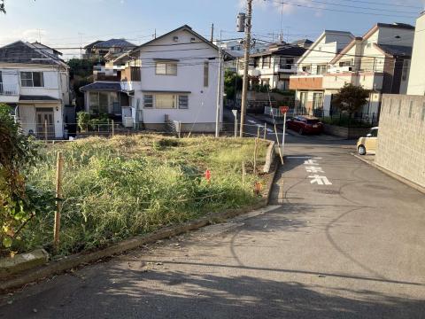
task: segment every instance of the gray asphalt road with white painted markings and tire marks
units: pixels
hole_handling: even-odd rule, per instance
[[[27,286],[0,318],[425,318],[425,196],[318,138],[288,136],[266,210]]]

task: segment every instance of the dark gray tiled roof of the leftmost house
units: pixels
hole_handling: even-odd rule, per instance
[[[0,48],[0,62],[57,65],[64,63],[54,54],[37,49],[30,43],[17,41]]]

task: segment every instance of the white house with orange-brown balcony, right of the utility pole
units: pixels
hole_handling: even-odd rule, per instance
[[[316,113],[325,99],[323,76],[329,62],[352,43],[354,35],[346,31],[325,30],[298,60],[298,72],[290,75],[290,89],[296,90],[296,113]]]

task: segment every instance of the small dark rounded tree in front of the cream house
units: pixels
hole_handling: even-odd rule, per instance
[[[347,83],[334,95],[332,105],[340,111],[348,113],[351,119],[353,113],[358,112],[363,105],[367,104],[369,93],[369,90],[363,89],[361,86]]]

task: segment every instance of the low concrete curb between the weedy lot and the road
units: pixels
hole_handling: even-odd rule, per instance
[[[226,220],[236,217],[237,215],[245,214],[251,212],[252,210],[257,210],[259,208],[266,207],[270,198],[270,194],[272,192],[271,188],[273,186],[274,176],[277,172],[277,165],[274,165],[273,168],[274,172],[270,176],[270,180],[267,182],[267,190],[264,192],[264,197],[261,198],[257,204],[238,209],[230,209],[222,213],[208,214],[205,217],[201,217],[195,221],[184,222],[180,225],[170,226],[160,230],[156,230],[150,234],[123,240],[120,243],[113,244],[96,252],[76,253],[58,261],[50,261],[49,264],[43,265],[39,268],[32,268],[26,273],[21,273],[20,276],[12,277],[9,279],[6,278],[2,280],[2,282],[0,283],[0,292],[7,292],[12,288],[19,288],[25,284],[35,282],[47,276],[52,276],[61,273],[71,268],[80,266],[81,264],[98,261],[100,259],[103,259],[105,257],[111,257],[118,253],[124,253],[129,250],[138,248],[142,245],[155,243],[159,239],[174,237],[190,230],[198,230],[214,223],[225,222]]]

